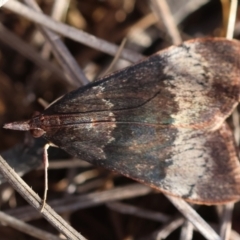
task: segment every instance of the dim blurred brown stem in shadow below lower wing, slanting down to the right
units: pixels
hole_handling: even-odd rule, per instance
[[[158,222],[166,223],[171,219],[170,216],[167,216],[163,213],[142,209],[142,208],[131,206],[129,204],[125,204],[121,202],[107,203],[107,207],[109,207],[114,211],[120,212],[122,214],[130,214],[130,215],[134,215],[137,217],[146,218],[146,219],[150,219]]]

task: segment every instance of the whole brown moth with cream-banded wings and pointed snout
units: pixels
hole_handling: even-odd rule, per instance
[[[240,43],[186,41],[64,95],[28,121],[73,156],[196,204],[240,198],[225,123],[240,100]]]

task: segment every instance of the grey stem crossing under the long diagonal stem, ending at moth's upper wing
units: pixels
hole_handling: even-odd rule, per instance
[[[41,9],[34,0],[24,1],[34,11],[41,13]],[[64,73],[70,80],[71,84],[74,85],[75,87],[79,87],[82,84],[85,85],[89,83],[83,71],[80,69],[77,62],[72,57],[71,53],[68,51],[68,49],[62,42],[60,36],[49,31],[45,27],[42,27],[41,25],[38,25],[38,27],[43,36],[45,37],[45,39],[48,41],[48,43],[51,44],[52,52],[56,59],[58,60],[59,64],[64,69]]]

